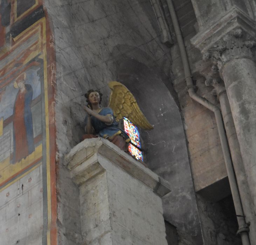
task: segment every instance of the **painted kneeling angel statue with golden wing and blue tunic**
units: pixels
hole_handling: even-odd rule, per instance
[[[130,138],[118,127],[120,119],[126,117],[144,130],[151,130],[153,126],[139,109],[132,93],[123,84],[110,82],[109,87],[112,91],[108,107],[101,107],[102,93],[99,90],[90,89],[84,95],[88,105],[84,107],[87,117],[83,139],[102,137],[126,151],[126,143],[130,142]]]

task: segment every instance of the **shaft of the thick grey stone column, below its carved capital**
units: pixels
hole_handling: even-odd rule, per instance
[[[244,168],[256,203],[256,62],[250,57],[230,59],[221,67],[234,119]]]

